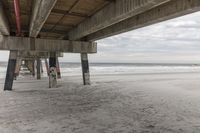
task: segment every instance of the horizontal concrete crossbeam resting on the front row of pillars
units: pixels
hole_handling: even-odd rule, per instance
[[[95,42],[0,36],[0,50],[96,53]]]

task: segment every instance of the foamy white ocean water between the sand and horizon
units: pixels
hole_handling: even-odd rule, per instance
[[[5,78],[7,62],[0,62],[0,78]],[[63,76],[81,75],[80,63],[60,63]],[[45,65],[43,62],[46,76]],[[26,71],[21,72],[21,76]],[[90,63],[91,75],[102,74],[151,74],[151,73],[200,73],[200,64],[150,64],[150,63]],[[26,72],[27,73],[27,72]]]

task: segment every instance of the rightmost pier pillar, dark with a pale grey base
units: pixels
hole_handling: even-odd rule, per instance
[[[90,85],[90,72],[87,53],[81,53],[83,84]]]

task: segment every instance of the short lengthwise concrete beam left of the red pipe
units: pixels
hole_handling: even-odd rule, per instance
[[[0,1],[0,34],[2,35],[10,35],[10,27],[8,24],[8,19],[5,15],[5,10],[3,8],[3,4]]]

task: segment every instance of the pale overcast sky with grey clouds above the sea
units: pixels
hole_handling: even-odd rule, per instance
[[[0,52],[7,61],[8,52]],[[98,41],[90,62],[200,63],[200,12]],[[79,62],[79,54],[61,61]]]

